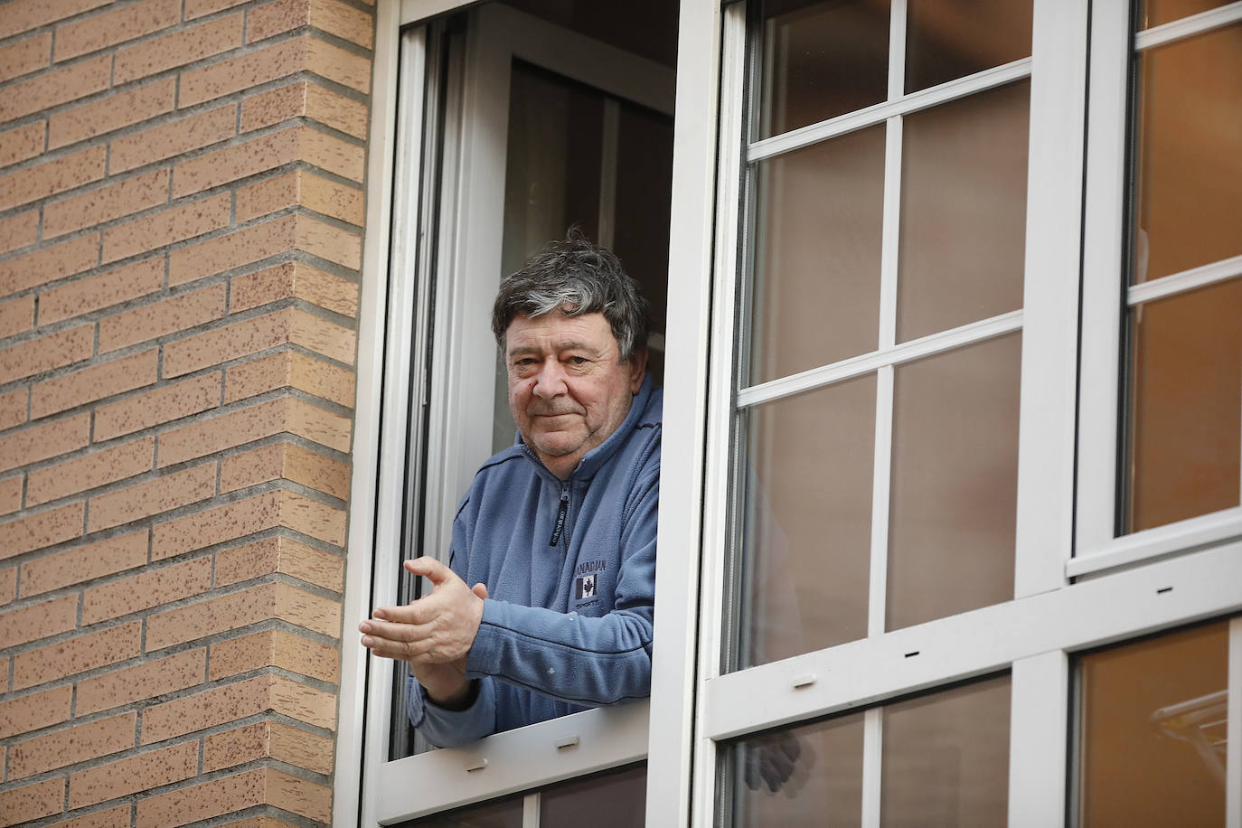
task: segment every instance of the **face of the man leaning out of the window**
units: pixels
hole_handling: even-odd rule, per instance
[[[620,361],[601,313],[514,317],[504,336],[509,408],[522,438],[565,479],[617,430],[642,385],[646,351]]]

